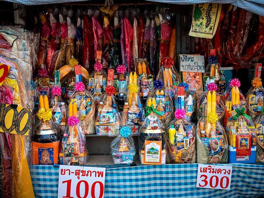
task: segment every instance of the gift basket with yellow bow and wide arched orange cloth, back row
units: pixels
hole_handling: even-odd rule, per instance
[[[66,88],[64,98],[67,100],[74,92],[75,83],[79,81],[86,82],[89,77],[87,70],[79,65],[78,61],[73,57],[69,60],[69,64],[59,68],[59,71],[60,82]]]

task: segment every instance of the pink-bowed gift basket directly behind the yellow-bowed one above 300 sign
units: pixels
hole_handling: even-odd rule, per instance
[[[214,103],[216,105],[216,114],[218,115],[219,122],[223,125],[224,115],[225,115],[225,106],[223,101],[221,100],[220,95],[216,92],[217,85],[215,83],[209,83],[207,85],[207,91],[204,91],[197,98],[197,119],[200,120],[201,117],[206,116],[205,111],[206,107],[210,103]],[[209,99],[209,101],[208,101]]]

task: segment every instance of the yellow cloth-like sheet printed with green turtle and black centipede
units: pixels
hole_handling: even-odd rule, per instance
[[[199,3],[194,5],[192,11],[192,25],[190,36],[208,38],[214,37],[216,32],[222,4]]]

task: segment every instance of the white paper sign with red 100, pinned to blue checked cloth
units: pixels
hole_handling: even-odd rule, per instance
[[[105,168],[60,165],[58,198],[103,198]]]

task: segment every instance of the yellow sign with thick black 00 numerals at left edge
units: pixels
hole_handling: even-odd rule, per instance
[[[0,103],[0,132],[28,135],[31,109]]]

